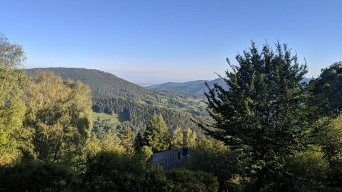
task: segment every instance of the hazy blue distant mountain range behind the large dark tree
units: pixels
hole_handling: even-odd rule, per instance
[[[304,77],[302,82],[308,83],[311,80],[311,78]],[[218,83],[221,87],[224,89],[228,89],[228,86],[224,82],[223,79],[218,78],[212,81],[208,80],[197,80],[197,81],[187,81],[184,83],[161,83],[158,85],[151,85],[147,86],[146,88],[149,90],[163,90],[167,92],[179,92],[183,94],[189,94],[192,96],[195,96],[196,98],[203,98],[205,95],[204,93],[207,92],[207,86],[205,85],[205,82],[208,83],[209,87],[213,87],[215,83]]]

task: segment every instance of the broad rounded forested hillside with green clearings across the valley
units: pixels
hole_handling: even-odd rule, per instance
[[[173,130],[177,126],[198,131],[192,119],[201,120],[205,114],[205,100],[186,94],[146,90],[114,74],[83,68],[34,68],[26,70],[29,76],[40,70],[49,70],[64,80],[81,81],[92,90],[93,111],[127,117],[135,131],[144,128],[153,113],[161,113]]]

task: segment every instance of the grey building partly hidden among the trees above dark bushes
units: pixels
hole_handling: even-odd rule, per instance
[[[152,156],[152,165],[161,165],[165,170],[184,168],[189,158],[189,148],[158,152]]]

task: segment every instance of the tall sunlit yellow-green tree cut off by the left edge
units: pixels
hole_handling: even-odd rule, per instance
[[[24,59],[22,47],[0,34],[0,165],[12,163],[21,156],[21,148],[29,148],[29,143],[21,141],[29,137],[21,129],[25,115],[21,97],[27,79]]]

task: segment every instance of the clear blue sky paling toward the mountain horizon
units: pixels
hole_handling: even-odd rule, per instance
[[[96,68],[135,83],[215,79],[254,40],[288,43],[307,77],[342,60],[342,1],[0,0],[26,68]]]

